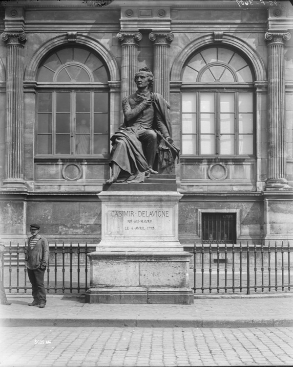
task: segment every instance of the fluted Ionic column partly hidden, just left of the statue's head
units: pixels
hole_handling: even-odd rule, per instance
[[[134,75],[137,70],[137,41],[143,36],[136,31],[123,31],[117,34],[117,38],[122,42],[121,61],[121,98],[136,91]]]

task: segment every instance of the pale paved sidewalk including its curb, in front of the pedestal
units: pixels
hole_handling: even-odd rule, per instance
[[[280,327],[293,326],[293,294],[196,296],[193,305],[87,304],[84,296],[47,296],[44,309],[32,297],[8,296],[2,326]]]

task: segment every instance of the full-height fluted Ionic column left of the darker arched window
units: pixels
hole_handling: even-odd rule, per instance
[[[4,32],[6,67],[6,146],[3,187],[24,189],[23,181],[23,32]]]

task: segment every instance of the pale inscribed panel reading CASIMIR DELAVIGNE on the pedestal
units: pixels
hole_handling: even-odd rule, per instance
[[[106,236],[172,237],[173,206],[106,206]]]

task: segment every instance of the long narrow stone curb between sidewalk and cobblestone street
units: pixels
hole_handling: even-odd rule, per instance
[[[2,319],[2,327],[196,327],[196,328],[238,328],[238,327],[281,327],[293,326],[292,319],[264,320],[134,320],[134,319]]]

